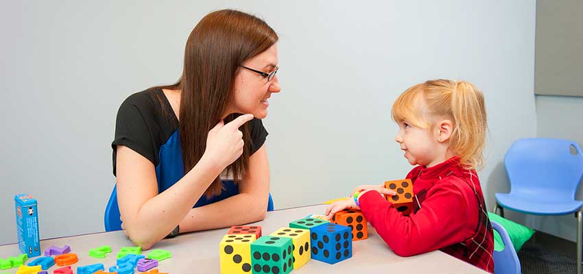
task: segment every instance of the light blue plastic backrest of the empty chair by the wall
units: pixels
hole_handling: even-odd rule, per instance
[[[512,195],[530,196],[545,190],[547,200],[575,199],[583,177],[583,154],[577,142],[525,138],[512,144],[504,157]]]

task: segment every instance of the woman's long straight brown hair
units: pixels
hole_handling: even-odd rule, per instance
[[[209,130],[219,123],[233,99],[239,66],[277,40],[277,34],[265,21],[237,10],[211,12],[194,27],[187,40],[182,76],[176,84],[156,87],[182,90],[179,136],[185,174],[202,158]],[[225,123],[238,115],[230,114]],[[243,154],[226,169],[235,182],[246,176],[250,156],[248,123],[240,130],[245,142]],[[204,194],[213,197],[222,190],[217,177]]]

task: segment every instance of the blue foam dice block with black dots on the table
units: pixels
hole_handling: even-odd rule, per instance
[[[310,230],[311,257],[335,264],[353,256],[353,234],[350,227],[328,223]]]

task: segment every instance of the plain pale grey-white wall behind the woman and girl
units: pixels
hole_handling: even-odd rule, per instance
[[[283,91],[265,119],[276,208],[404,177],[390,108],[436,77],[484,91],[488,207],[508,190],[503,153],[536,134],[534,0],[10,1],[0,10],[10,40],[0,43],[0,244],[16,241],[20,192],[39,201],[41,238],[103,230],[119,104],[174,82],[192,27],[219,8],[258,14],[281,38]]]

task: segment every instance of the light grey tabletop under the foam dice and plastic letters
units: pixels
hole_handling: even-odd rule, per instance
[[[305,218],[309,214],[323,214],[326,205],[306,206],[267,212],[265,220],[253,223],[261,225],[263,235],[269,235],[281,227],[287,227],[289,222]],[[204,232],[181,234],[180,236],[162,240],[153,249],[165,249],[172,253],[172,258],[163,260],[158,267],[164,273],[219,273],[219,242],[228,229],[215,229]],[[51,245],[63,247],[69,245],[71,253],[79,256],[79,262],[73,264],[73,270],[78,266],[88,264],[104,264],[106,271],[116,262],[117,251],[121,247],[130,247],[132,242],[123,232],[103,232],[96,234],[41,240],[41,251]],[[110,245],[112,253],[104,259],[88,256],[89,249],[102,245]],[[147,255],[148,251],[143,251]],[[18,245],[0,246],[0,258],[19,256]],[[27,262],[32,262],[29,259]],[[52,273],[60,266],[49,269]],[[326,264],[310,260],[300,269],[292,273],[486,273],[477,267],[457,260],[441,251],[433,251],[418,256],[400,257],[383,242],[372,227],[368,227],[368,239],[353,242],[353,257],[336,264]],[[16,268],[0,271],[0,273],[16,273]],[[75,271],[76,273],[76,271]],[[136,273],[139,273],[136,271]]]

